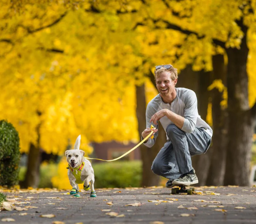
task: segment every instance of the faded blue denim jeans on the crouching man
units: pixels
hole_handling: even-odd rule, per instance
[[[157,154],[151,169],[157,175],[174,180],[192,169],[191,156],[205,153],[211,137],[204,128],[196,127],[189,134],[175,124],[169,124],[166,133],[169,140]]]

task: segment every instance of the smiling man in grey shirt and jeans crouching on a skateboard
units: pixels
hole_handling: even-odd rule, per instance
[[[152,164],[155,174],[169,179],[166,187],[198,183],[191,156],[205,153],[212,136],[212,129],[198,114],[196,94],[189,89],[175,88],[177,78],[177,69],[172,65],[156,66],[159,94],[147,106],[147,129],[142,132],[144,139],[153,131],[153,138],[144,142],[152,147],[158,136],[158,121],[166,131],[168,141]],[[151,125],[156,128],[151,130]]]

